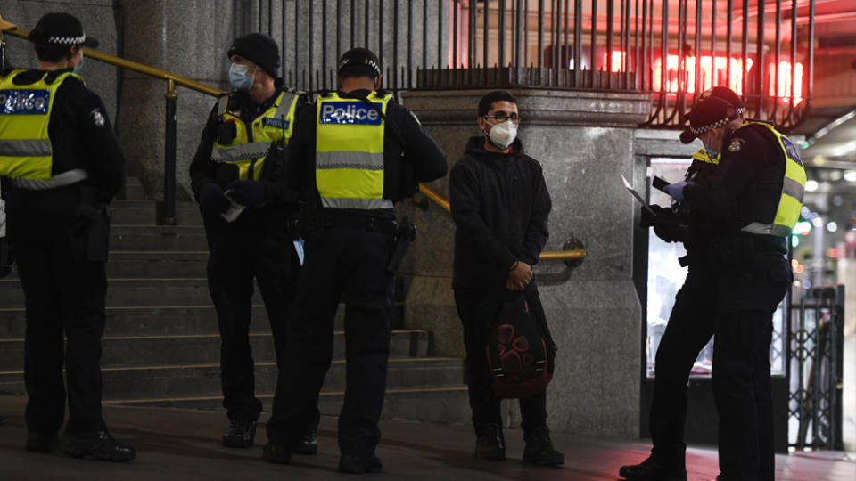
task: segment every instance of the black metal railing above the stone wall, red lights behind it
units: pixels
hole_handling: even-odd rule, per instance
[[[685,124],[710,86],[788,128],[811,104],[815,0],[259,0],[283,77],[333,89],[344,49],[380,56],[384,86],[650,94],[643,126]],[[274,21],[276,19],[276,21]]]

